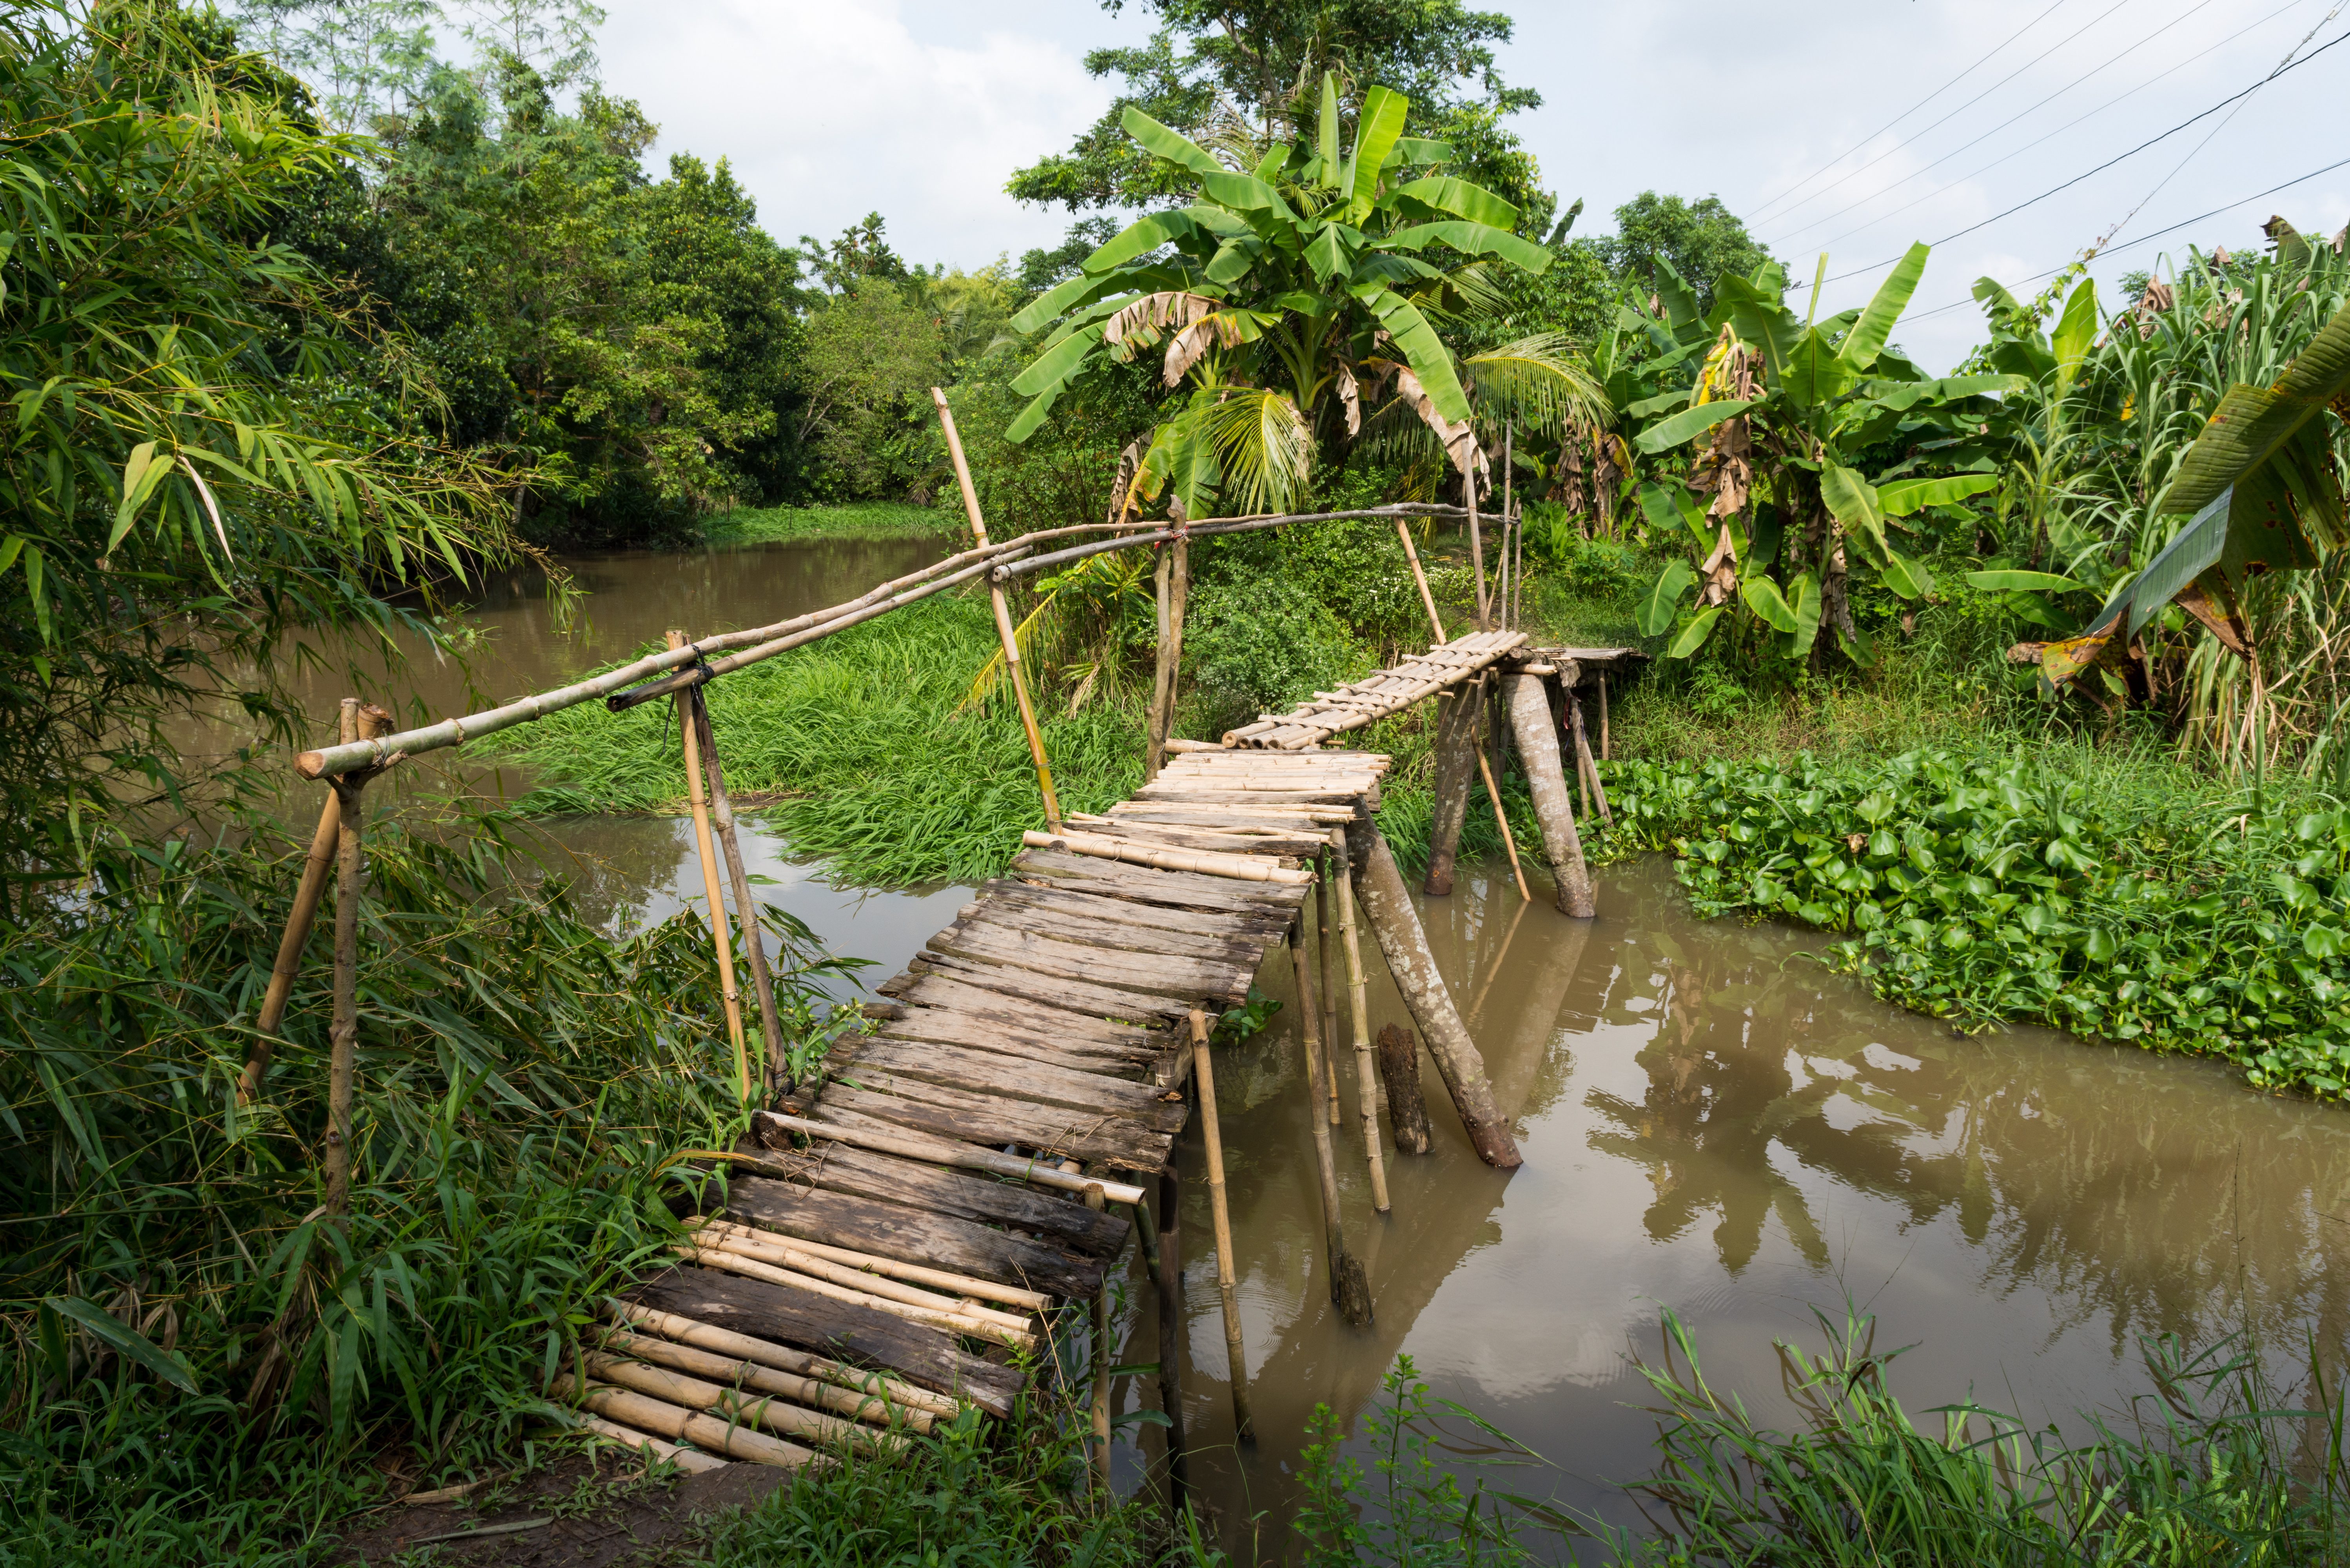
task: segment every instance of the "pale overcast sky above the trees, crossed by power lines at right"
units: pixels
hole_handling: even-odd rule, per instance
[[[1140,5],[1090,0],[606,5],[604,82],[660,125],[656,167],[724,155],[785,242],[879,209],[909,261],[961,268],[1062,237],[1067,212],[1003,181],[1107,106],[1086,52],[1149,26]],[[2350,160],[2350,45],[2315,54],[2350,33],[2343,0],[1483,5],[1518,16],[1502,71],[1544,106],[1516,127],[1544,183],[1586,197],[1577,233],[1605,233],[1640,190],[1720,195],[1791,275],[1828,252],[1828,310],[1866,299],[1911,240],[1936,242],[1899,331],[1934,369],[1979,339],[1967,289],[1986,273],[2026,294],[2113,235],[2110,303],[2164,247],[2258,247],[2272,212],[2305,233],[2350,223],[2350,162],[2301,179]],[[2296,49],[2315,59],[2089,174]]]

